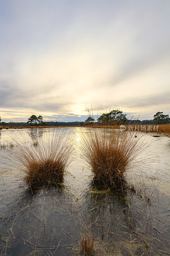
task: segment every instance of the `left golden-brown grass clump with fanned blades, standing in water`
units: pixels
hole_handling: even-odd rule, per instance
[[[8,165],[26,173],[25,180],[31,185],[44,185],[61,182],[70,164],[73,152],[72,142],[66,131],[55,129],[44,133],[44,137],[35,134],[34,143],[24,135],[22,141],[17,137],[13,140],[17,148],[7,150]]]

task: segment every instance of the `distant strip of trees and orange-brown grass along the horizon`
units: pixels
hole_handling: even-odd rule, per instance
[[[153,120],[139,120],[137,119],[127,119],[126,114],[123,114],[119,109],[112,110],[109,113],[103,113],[97,118],[97,121],[90,115],[85,121],[81,122],[46,122],[42,121],[42,116],[32,115],[28,118],[26,123],[24,122],[0,122],[0,129],[19,129],[19,128],[34,128],[34,127],[78,127],[78,126],[88,126],[93,128],[120,128],[120,124],[123,124],[126,127],[126,130],[130,131],[141,131],[141,132],[158,132],[163,133],[166,136],[170,137],[170,118],[169,115],[163,115],[163,112],[157,112],[154,115]],[[1,121],[1,119],[0,119]],[[156,126],[157,125],[157,126]],[[130,127],[132,126],[132,127]]]

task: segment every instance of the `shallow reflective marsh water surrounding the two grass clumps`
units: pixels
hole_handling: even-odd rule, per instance
[[[0,144],[14,135],[43,138],[44,132],[53,131],[0,130]],[[117,193],[93,186],[92,171],[80,157],[81,132],[67,128],[75,159],[58,187],[32,190],[24,173],[0,164],[0,255],[80,255],[82,235],[94,237],[95,255],[170,255],[170,139],[144,134],[157,161],[127,172],[127,186]],[[0,149],[1,159],[6,150]]]

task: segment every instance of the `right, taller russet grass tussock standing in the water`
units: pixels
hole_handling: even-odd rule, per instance
[[[85,128],[80,133],[81,155],[91,166],[95,178],[115,185],[120,184],[123,175],[134,165],[146,164],[144,155],[149,141],[142,132],[121,132],[120,129]],[[139,158],[140,154],[143,157]]]

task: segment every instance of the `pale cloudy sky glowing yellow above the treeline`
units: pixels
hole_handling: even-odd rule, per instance
[[[0,0],[0,116],[170,114],[169,0]]]

